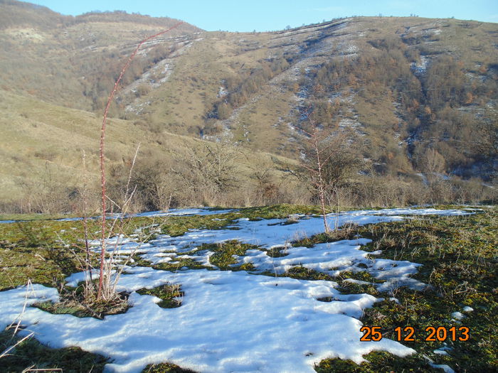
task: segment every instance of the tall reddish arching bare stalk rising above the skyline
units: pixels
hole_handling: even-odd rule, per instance
[[[105,299],[104,296],[104,269],[105,269],[105,252],[106,252],[106,226],[105,226],[105,220],[106,220],[106,210],[107,210],[107,195],[105,191],[105,159],[104,159],[104,145],[105,145],[105,127],[107,124],[107,114],[109,112],[110,105],[112,103],[112,99],[114,98],[115,93],[117,92],[118,86],[121,82],[121,79],[124,75],[124,72],[126,72],[127,68],[129,67],[129,64],[132,63],[132,60],[135,55],[137,55],[139,48],[148,40],[151,40],[153,38],[157,38],[157,36],[163,35],[164,33],[168,33],[169,31],[173,30],[174,28],[179,27],[183,22],[176,23],[174,26],[168,28],[167,30],[161,31],[159,33],[156,33],[152,36],[149,36],[148,38],[145,38],[142,40],[138,45],[137,48],[134,49],[133,53],[129,56],[127,63],[124,65],[120,72],[120,76],[117,78],[114,88],[112,89],[109,99],[107,99],[107,104],[105,106],[104,110],[104,117],[102,119],[102,129],[101,129],[101,134],[100,134],[100,181],[101,181],[101,189],[102,189],[102,230],[101,230],[101,249],[100,249],[100,278],[99,278],[99,286],[98,286],[98,293],[97,293],[97,299]],[[111,229],[112,232],[112,229]],[[108,291],[106,291],[108,293]]]

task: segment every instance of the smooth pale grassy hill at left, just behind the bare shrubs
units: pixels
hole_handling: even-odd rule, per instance
[[[96,185],[100,172],[100,118],[90,112],[4,91],[0,91],[0,102],[0,109],[5,112],[0,117],[3,135],[0,147],[3,159],[0,166],[0,200],[8,202],[24,197],[28,203],[30,196],[39,193],[40,198],[43,195],[49,198],[44,193],[53,192],[65,203],[68,195],[81,188],[84,180],[90,189]],[[170,167],[179,168],[181,158],[201,154],[192,152],[202,152],[206,145],[213,146],[189,136],[146,131],[133,121],[111,119],[108,121],[105,151],[107,171],[111,183],[115,180],[119,184],[123,178],[126,179],[137,146],[139,153],[135,173],[139,177],[146,172],[144,169],[148,170],[147,167],[153,164],[157,165],[157,172],[161,169],[169,171]],[[270,168],[270,176],[276,177],[275,163],[293,162],[267,153],[255,154],[235,148],[233,152],[234,158],[230,164],[240,178],[249,178],[256,166]],[[84,172],[86,178],[83,177]],[[168,177],[170,188],[175,188],[171,175]]]

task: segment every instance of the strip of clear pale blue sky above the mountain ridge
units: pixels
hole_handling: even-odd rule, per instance
[[[207,31],[272,31],[344,16],[410,16],[498,22],[497,0],[31,0],[76,16],[88,11],[123,10],[179,18]]]

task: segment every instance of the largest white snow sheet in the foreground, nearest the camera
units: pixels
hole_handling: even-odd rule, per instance
[[[361,322],[355,317],[376,299],[341,296],[328,281],[136,267],[122,276],[120,290],[166,282],[181,284],[185,295],[180,308],[159,308],[158,298],[132,293],[133,307],[105,320],[26,308],[22,321],[52,347],[78,345],[112,357],[108,372],[140,372],[149,363],[164,361],[201,372],[314,372],[313,364],[326,357],[359,363],[372,350],[400,356],[414,352],[389,339],[360,342]],[[34,288],[28,304],[57,296],[55,289]],[[23,288],[0,293],[0,327],[16,318],[25,293]],[[317,301],[325,296],[341,299]]]

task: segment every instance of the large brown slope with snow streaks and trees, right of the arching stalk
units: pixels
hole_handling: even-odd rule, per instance
[[[445,160],[441,171],[489,180],[496,154],[482,156],[483,127],[495,128],[496,35],[492,23],[391,17],[203,33],[120,102],[130,119],[208,139],[228,131],[233,141],[288,156],[309,109],[330,129],[367,135],[364,156],[378,171],[425,172],[433,148]]]

